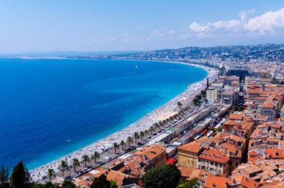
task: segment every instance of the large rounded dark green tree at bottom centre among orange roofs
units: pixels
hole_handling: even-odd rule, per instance
[[[180,170],[175,165],[163,165],[148,170],[142,177],[143,187],[175,188],[180,181]]]

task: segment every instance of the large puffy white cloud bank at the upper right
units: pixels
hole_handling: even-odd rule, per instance
[[[213,23],[200,24],[197,22],[190,23],[189,29],[192,33],[202,36],[212,36],[216,34],[228,35],[263,35],[280,33],[284,28],[284,8],[279,11],[268,11],[261,16],[247,18],[254,9],[249,11],[241,11],[240,19],[232,19],[227,21],[216,21]]]

